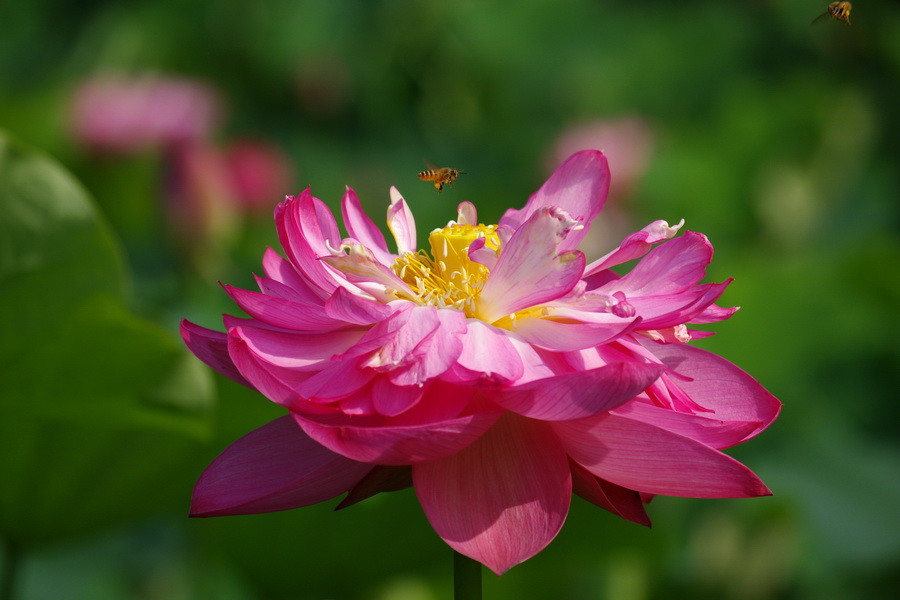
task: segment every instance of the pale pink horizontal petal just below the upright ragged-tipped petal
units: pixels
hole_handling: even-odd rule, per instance
[[[609,313],[598,313],[606,323],[561,323],[550,319],[522,319],[516,322],[515,333],[526,342],[566,352],[582,350],[608,343],[634,329],[640,319],[627,319]]]

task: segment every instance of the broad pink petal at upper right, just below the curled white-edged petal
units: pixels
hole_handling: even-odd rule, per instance
[[[705,235],[688,231],[657,246],[628,274],[599,290],[624,292],[629,298],[678,293],[703,279],[712,253]]]

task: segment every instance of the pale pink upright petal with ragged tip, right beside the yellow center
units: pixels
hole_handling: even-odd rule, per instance
[[[584,254],[559,252],[575,222],[554,207],[534,212],[503,247],[481,290],[478,318],[492,323],[569,292],[584,271]]]

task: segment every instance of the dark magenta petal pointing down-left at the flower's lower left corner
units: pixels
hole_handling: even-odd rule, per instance
[[[308,506],[355,486],[372,469],[311,440],[290,417],[225,449],[194,487],[192,517],[248,515]]]

